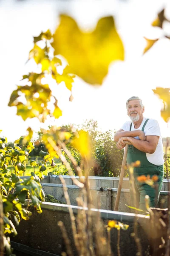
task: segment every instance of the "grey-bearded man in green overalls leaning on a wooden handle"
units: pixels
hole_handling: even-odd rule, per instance
[[[122,128],[114,135],[117,141],[117,148],[122,149],[126,144],[127,165],[140,161],[140,166],[134,168],[134,187],[136,190],[136,205],[134,205],[134,191],[130,186],[131,205],[146,209],[145,195],[150,197],[150,207],[156,207],[159,201],[159,194],[162,187],[164,175],[163,145],[161,141],[161,132],[159,124],[154,119],[148,119],[143,116],[144,106],[139,97],[131,97],[126,102],[127,115],[131,122],[125,122]],[[137,177],[141,175],[158,176],[156,188],[147,183],[140,183]],[[129,173],[130,177],[130,173]]]

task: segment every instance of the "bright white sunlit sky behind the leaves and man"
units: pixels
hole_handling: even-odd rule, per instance
[[[156,87],[170,87],[170,40],[161,39],[144,56],[143,36],[156,38],[159,28],[150,23],[166,6],[170,19],[170,3],[163,0],[1,0],[0,1],[0,110],[2,136],[14,141],[26,134],[28,126],[38,131],[48,125],[80,124],[85,119],[98,121],[102,131],[119,129],[128,120],[125,102],[130,96],[139,96],[145,106],[144,115],[159,121],[162,137],[170,136],[170,128],[160,116],[161,101],[153,95]],[[64,84],[54,86],[63,114],[57,120],[40,124],[37,119],[24,122],[16,115],[15,107],[7,107],[12,90],[22,75],[34,71],[35,64],[28,59],[33,47],[33,36],[41,31],[55,31],[59,13],[74,17],[80,28],[95,27],[100,17],[113,15],[125,47],[125,61],[110,65],[102,86],[91,86],[81,79],[73,84],[73,102]],[[165,24],[170,32],[170,25]],[[169,33],[170,34],[170,33]]]

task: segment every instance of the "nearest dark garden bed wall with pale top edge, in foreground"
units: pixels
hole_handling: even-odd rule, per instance
[[[78,208],[79,207],[72,206],[74,215],[77,215]],[[98,210],[92,209],[94,215],[96,211]],[[108,210],[100,210],[100,212],[102,221],[104,221],[105,224],[107,224],[108,220],[116,220],[129,225],[127,230],[120,230],[120,253],[121,256],[136,256],[136,243],[134,238],[130,236],[130,234],[133,233],[135,215],[132,213]],[[74,247],[71,220],[67,205],[45,202],[42,204],[41,214],[38,214],[33,209],[33,214],[30,219],[28,221],[21,221],[20,225],[17,227],[18,235],[11,238],[11,240],[15,243],[19,243],[19,245],[23,244],[33,249],[61,255],[62,251],[65,251],[65,243],[62,239],[61,230],[57,225],[58,221],[64,223],[68,237],[71,240],[74,255],[76,256],[77,252]],[[139,223],[138,235],[141,239],[142,255],[147,255],[149,240],[146,233],[149,232],[149,219],[145,218],[143,215],[137,215],[137,222]],[[114,255],[117,255],[117,234],[118,231],[113,228],[111,230],[111,248]]]

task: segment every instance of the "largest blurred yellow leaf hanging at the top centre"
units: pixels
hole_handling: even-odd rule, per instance
[[[73,18],[61,15],[53,38],[54,55],[67,59],[68,73],[90,84],[102,84],[109,64],[124,59],[123,44],[111,16],[101,18],[94,31],[82,32]]]

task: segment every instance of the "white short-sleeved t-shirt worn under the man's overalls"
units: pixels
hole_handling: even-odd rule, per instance
[[[142,124],[137,129],[134,128],[134,125],[132,123],[131,131],[142,130],[142,127],[146,119],[147,118],[144,117]],[[124,131],[129,131],[131,122],[132,121],[125,122],[124,125],[122,125],[121,129]],[[144,127],[144,134],[145,136],[150,136],[150,135],[159,136],[159,142],[156,147],[156,151],[153,154],[146,153],[146,157],[150,163],[153,163],[156,166],[162,165],[164,163],[164,152],[163,152],[163,144],[161,139],[161,131],[159,128],[159,123],[155,119],[149,119],[147,121],[147,124]],[[139,137],[135,137],[135,139],[139,140]]]

